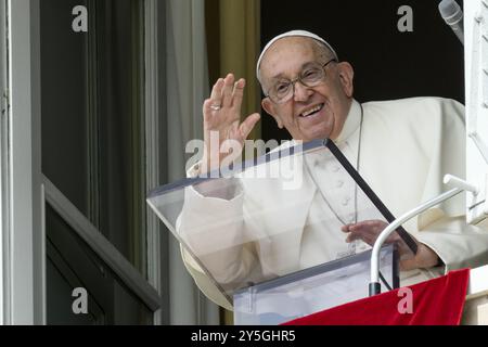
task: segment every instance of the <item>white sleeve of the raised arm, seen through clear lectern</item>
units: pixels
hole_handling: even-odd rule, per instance
[[[201,266],[230,290],[244,281],[256,266],[252,245],[244,245],[243,205],[244,193],[237,179],[209,180],[196,189],[189,187],[184,191],[177,232],[190,250],[183,249],[182,253],[185,266],[192,268],[190,273],[204,293],[208,281],[202,280],[204,271]],[[193,258],[192,261],[189,258]]]

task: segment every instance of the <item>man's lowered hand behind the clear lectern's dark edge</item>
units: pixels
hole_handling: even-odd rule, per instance
[[[380,233],[387,226],[388,224],[382,220],[364,220],[357,222],[356,224],[344,226],[342,231],[348,233],[346,239],[347,243],[361,240],[370,246],[373,246],[377,236],[380,236]],[[398,252],[402,258],[400,260],[400,270],[408,271],[436,266],[438,262],[437,254],[423,243],[418,242],[415,239],[414,241],[418,245],[418,252],[414,257],[406,257],[411,254],[411,250],[398,233],[391,233],[385,241],[387,244],[396,243],[398,245]]]

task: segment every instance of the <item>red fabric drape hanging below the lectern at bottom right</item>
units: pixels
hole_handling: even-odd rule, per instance
[[[407,287],[411,295],[404,288],[395,290],[283,325],[459,325],[468,280],[470,269],[451,271]],[[408,297],[412,298],[412,313],[408,312]]]

